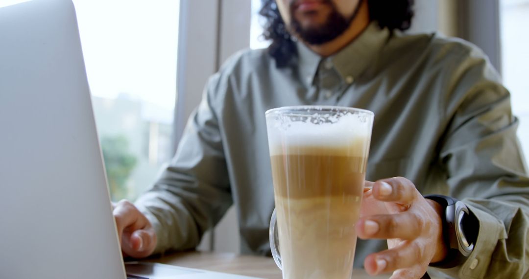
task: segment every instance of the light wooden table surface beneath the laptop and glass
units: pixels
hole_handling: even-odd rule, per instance
[[[282,278],[281,271],[269,257],[232,253],[184,252],[151,258],[148,261],[267,279]],[[355,269],[352,276],[354,279],[388,277],[389,275],[371,277],[363,269]]]

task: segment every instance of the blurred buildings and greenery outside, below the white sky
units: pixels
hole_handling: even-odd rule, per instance
[[[172,157],[172,109],[127,94],[92,103],[111,198],[134,201]]]

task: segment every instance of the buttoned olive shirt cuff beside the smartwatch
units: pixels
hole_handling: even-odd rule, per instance
[[[474,250],[460,266],[435,269],[456,278],[484,278],[500,233],[504,230],[503,222],[486,212],[479,204],[469,201],[464,203],[479,221],[478,239]]]

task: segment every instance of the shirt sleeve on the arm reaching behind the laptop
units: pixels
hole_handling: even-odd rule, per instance
[[[219,88],[217,73],[190,116],[177,152],[152,189],[136,206],[157,233],[154,253],[196,247],[232,204],[222,136],[213,106]]]

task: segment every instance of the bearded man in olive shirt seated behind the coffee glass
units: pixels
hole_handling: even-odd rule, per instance
[[[400,33],[411,2],[263,1],[268,50],[224,64],[154,187],[137,208],[116,205],[124,253],[193,248],[234,203],[242,252],[269,254],[265,111],[338,105],[376,117],[367,173],[376,182],[356,226],[368,240],[355,266],[392,278],[419,278],[429,265],[455,277],[526,277],[529,179],[509,94],[473,45]],[[432,193],[461,200],[464,212],[449,216],[450,198],[423,197]],[[458,250],[458,240],[468,245]]]

